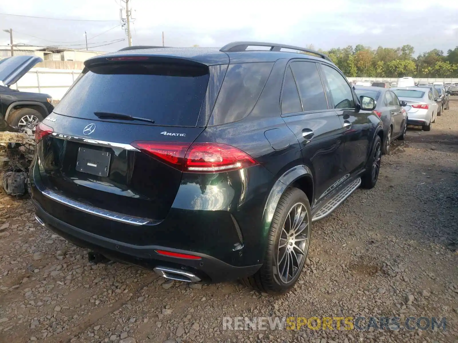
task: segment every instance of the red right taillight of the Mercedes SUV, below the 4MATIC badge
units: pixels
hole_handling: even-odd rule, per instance
[[[258,164],[245,152],[221,143],[166,143],[135,141],[138,150],[186,172],[216,173]]]

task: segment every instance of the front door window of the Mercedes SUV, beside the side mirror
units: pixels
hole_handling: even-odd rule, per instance
[[[334,108],[354,108],[353,92],[344,76],[325,64],[322,64],[322,69],[334,100]]]

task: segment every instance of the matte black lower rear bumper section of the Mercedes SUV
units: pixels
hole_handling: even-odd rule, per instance
[[[36,214],[49,230],[71,241],[75,245],[91,249],[105,257],[144,268],[169,267],[181,269],[198,276],[204,282],[223,282],[250,276],[261,267],[258,265],[236,267],[206,254],[173,249],[158,245],[133,245],[98,236],[67,224],[47,213],[37,201],[33,200]],[[166,250],[200,257],[200,259],[183,259],[159,255],[156,250]]]

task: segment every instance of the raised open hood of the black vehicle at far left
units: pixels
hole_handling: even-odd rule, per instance
[[[13,56],[0,60],[0,85],[11,86],[27,71],[43,61],[38,56]]]

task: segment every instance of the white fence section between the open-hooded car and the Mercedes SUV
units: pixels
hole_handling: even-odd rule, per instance
[[[16,84],[11,85],[11,88],[46,93],[54,100],[60,100],[80,73],[81,70],[32,68]]]

